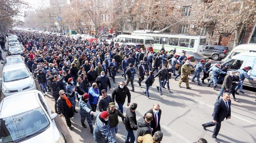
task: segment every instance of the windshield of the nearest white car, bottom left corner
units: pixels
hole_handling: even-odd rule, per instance
[[[20,142],[40,134],[50,126],[41,107],[0,119],[0,142]]]

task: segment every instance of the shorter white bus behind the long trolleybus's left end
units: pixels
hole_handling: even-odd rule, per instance
[[[122,45],[122,43],[140,43],[144,44],[146,49],[149,47],[149,45],[154,48],[154,38],[152,38],[151,36],[121,34],[117,36],[116,41],[119,45]]]

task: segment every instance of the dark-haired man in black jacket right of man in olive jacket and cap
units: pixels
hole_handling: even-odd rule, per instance
[[[127,134],[125,138],[125,143],[134,143],[135,141],[134,130],[138,129],[136,113],[135,113],[136,109],[137,109],[137,104],[132,103],[131,107],[126,110],[125,129],[127,130]]]

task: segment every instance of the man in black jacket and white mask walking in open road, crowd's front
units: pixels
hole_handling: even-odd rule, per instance
[[[126,99],[126,96],[128,97],[128,103],[127,106],[130,106],[130,101],[131,101],[131,94],[129,89],[125,86],[124,81],[121,81],[118,87],[114,89],[112,92],[112,100],[113,102],[117,102],[117,105],[119,107],[119,110],[123,114],[123,105]],[[124,118],[122,118],[122,121],[124,123]]]

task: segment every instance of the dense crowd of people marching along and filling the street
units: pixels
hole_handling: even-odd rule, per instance
[[[47,35],[42,33],[31,33],[18,31],[19,41],[25,47],[24,58],[25,63],[33,73],[34,77],[40,84],[43,94],[51,94],[55,101],[55,112],[59,116],[64,116],[67,126],[72,130],[70,118],[78,111],[76,107],[76,98],[79,104],[79,113],[81,116],[81,125],[85,125],[85,119],[90,127],[90,132],[97,143],[115,143],[115,137],[118,133],[118,116],[122,118],[125,124],[127,134],[126,143],[158,143],[163,138],[160,129],[161,109],[160,105],[154,104],[145,116],[136,119],[135,110],[136,103],[131,103],[131,93],[135,92],[134,80],[137,80],[139,88],[143,88],[142,81],[145,79],[145,94],[150,99],[149,88],[153,85],[155,78],[159,78],[159,86],[157,89],[162,95],[162,89],[166,89],[171,93],[169,80],[171,76],[175,76],[176,80],[180,76],[178,87],[181,83],[186,83],[189,87],[189,76],[191,74],[190,67],[195,68],[195,76],[192,82],[197,82],[199,86],[206,84],[208,79],[208,87],[213,84],[217,90],[217,81],[223,80],[223,85],[217,100],[224,92],[232,93],[234,100],[237,90],[243,93],[243,80],[248,78],[247,72],[251,67],[244,67],[229,74],[227,69],[230,67],[226,64],[220,69],[221,63],[211,64],[208,60],[204,66],[204,60],[200,60],[197,64],[191,65],[190,58],[184,55],[175,54],[174,50],[171,54],[164,51],[156,53],[150,46],[148,49],[137,49],[136,47],[128,48],[110,44],[107,42],[89,43],[88,41],[74,40],[65,36]],[[176,73],[176,64],[178,72]],[[137,69],[137,70],[136,70]],[[155,74],[154,74],[154,71]],[[204,77],[200,83],[200,72],[204,72]],[[108,90],[111,91],[111,80],[115,83],[115,76],[121,73],[125,81],[113,89],[111,96],[107,95]],[[137,76],[135,76],[137,74]],[[108,76],[109,75],[109,76]],[[131,83],[132,90],[128,89]],[[127,98],[126,114],[123,114],[123,106]],[[118,108],[115,108],[115,102]],[[96,112],[96,109],[100,112]],[[93,129],[92,120],[95,119]],[[208,126],[208,125],[207,125]],[[210,125],[209,125],[210,126]],[[135,138],[134,130],[137,130]]]

